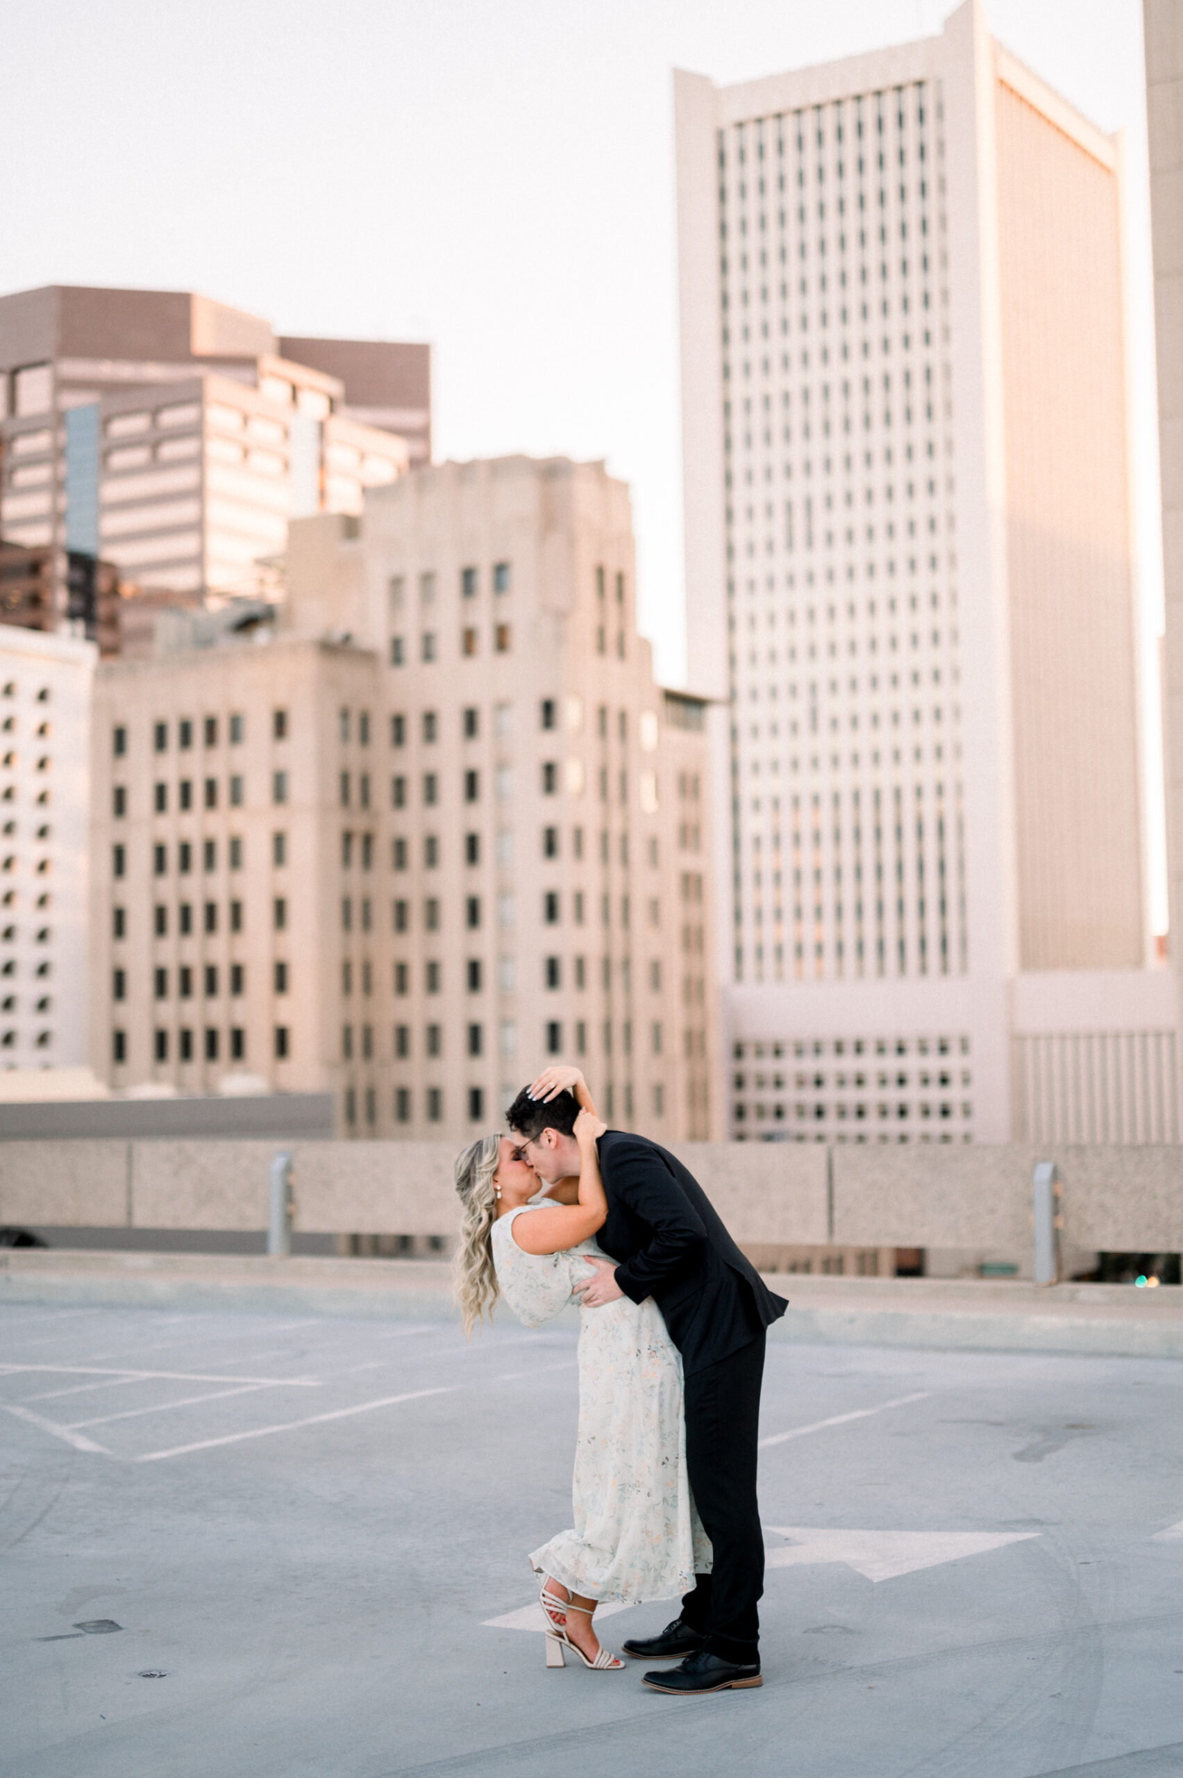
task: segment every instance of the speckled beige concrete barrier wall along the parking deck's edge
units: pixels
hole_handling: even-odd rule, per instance
[[[266,1227],[272,1141],[9,1141],[0,1223]],[[449,1234],[446,1143],[304,1141],[297,1229]],[[1030,1245],[1030,1175],[1057,1161],[1064,1239],[1112,1252],[1183,1250],[1183,1149],[835,1147],[687,1143],[680,1159],[744,1245],[986,1248]]]

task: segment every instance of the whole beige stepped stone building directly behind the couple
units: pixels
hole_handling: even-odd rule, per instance
[[[96,1069],[462,1138],[583,1058],[714,1134],[705,708],[634,597],[600,464],[442,464],[291,526],[270,640],[101,669]]]

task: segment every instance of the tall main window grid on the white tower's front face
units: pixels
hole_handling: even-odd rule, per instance
[[[966,969],[940,98],[719,132],[739,981]]]

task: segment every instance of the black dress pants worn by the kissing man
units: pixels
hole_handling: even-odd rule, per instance
[[[686,1378],[686,1469],[712,1574],[695,1577],[682,1622],[725,1661],[758,1661],[764,1533],[757,1506],[757,1437],[766,1334]]]

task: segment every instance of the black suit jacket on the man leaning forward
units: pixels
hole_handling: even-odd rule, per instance
[[[634,1303],[652,1296],[686,1376],[748,1346],[789,1307],[744,1259],[689,1168],[645,1136],[599,1143],[607,1221],[597,1243]]]

